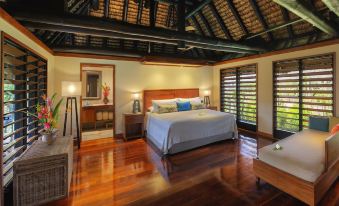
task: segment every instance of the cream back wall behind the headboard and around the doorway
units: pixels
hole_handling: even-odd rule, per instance
[[[211,67],[186,68],[179,66],[143,65],[135,61],[55,57],[55,91],[60,94],[61,81],[79,81],[80,63],[114,64],[116,92],[116,133],[122,133],[122,114],[132,111],[132,92],[145,89],[212,89]],[[64,107],[63,107],[64,108]],[[61,124],[63,124],[62,112]]]

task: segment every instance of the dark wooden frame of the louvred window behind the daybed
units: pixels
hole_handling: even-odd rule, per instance
[[[302,113],[302,105],[303,105],[303,102],[302,102],[302,94],[305,94],[307,92],[303,92],[302,90],[302,85],[300,85],[300,83],[303,82],[302,80],[302,73],[300,73],[300,71],[302,71],[301,67],[302,67],[302,61],[305,60],[305,59],[311,59],[311,58],[316,58],[316,57],[322,57],[322,56],[332,56],[332,73],[333,73],[333,79],[332,79],[332,82],[333,82],[333,86],[332,86],[332,116],[335,116],[336,115],[336,52],[329,52],[329,53],[323,53],[323,54],[316,54],[316,55],[309,55],[309,56],[302,56],[302,57],[298,57],[298,58],[288,58],[288,59],[279,59],[279,60],[276,60],[276,61],[273,61],[272,62],[272,90],[273,90],[273,98],[272,98],[272,133],[273,133],[273,137],[275,138],[278,138],[278,139],[281,139],[281,138],[285,138],[287,136],[290,136],[292,134],[295,134],[295,132],[292,132],[292,131],[283,131],[283,130],[278,130],[276,129],[276,112],[275,112],[275,103],[276,103],[276,100],[275,100],[275,94],[276,94],[276,91],[275,91],[275,64],[278,63],[278,62],[284,62],[284,61],[298,61],[299,63],[299,94],[301,94],[301,96],[299,95],[299,98],[298,98],[298,102],[301,104],[301,106],[299,107],[299,131],[301,131],[303,129],[303,124],[300,125],[300,121],[302,122],[302,119],[303,119],[303,113]],[[300,67],[300,64],[301,64],[301,67]],[[301,120],[300,120],[301,119]]]

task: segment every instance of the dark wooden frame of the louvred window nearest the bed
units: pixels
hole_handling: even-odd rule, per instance
[[[257,132],[258,131],[258,111],[259,111],[259,108],[258,108],[258,63],[250,63],[250,64],[244,64],[244,65],[240,65],[240,66],[233,66],[233,67],[226,67],[226,68],[221,68],[220,71],[219,71],[219,88],[220,88],[220,92],[219,92],[219,97],[220,97],[220,111],[221,112],[224,112],[223,111],[223,108],[222,108],[222,105],[223,105],[223,97],[222,97],[222,87],[223,87],[223,83],[222,83],[222,72],[225,71],[225,70],[236,70],[237,72],[237,75],[236,75],[236,84],[238,84],[238,71],[239,69],[241,68],[245,68],[245,67],[254,67],[254,71],[255,71],[255,108],[256,108],[256,112],[255,112],[255,124],[250,124],[250,123],[246,123],[246,122],[243,122],[243,121],[239,121],[239,105],[238,105],[238,99],[239,99],[239,85],[236,85],[236,122],[237,122],[237,125],[238,125],[238,128],[240,129],[245,129],[245,130],[248,130],[248,131],[253,131],[253,132]]]

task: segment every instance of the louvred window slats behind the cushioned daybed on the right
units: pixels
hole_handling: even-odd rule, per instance
[[[308,118],[334,113],[333,54],[273,63],[276,137],[308,127]]]

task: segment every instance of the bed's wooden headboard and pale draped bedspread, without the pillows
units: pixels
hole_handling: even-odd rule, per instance
[[[146,90],[144,111],[152,105],[152,100],[197,96],[199,89]],[[146,112],[146,137],[167,155],[235,139],[238,132],[234,115],[200,109],[163,114]]]

